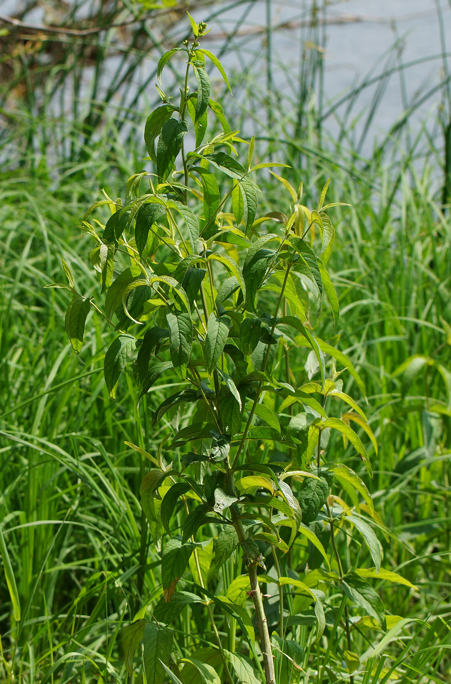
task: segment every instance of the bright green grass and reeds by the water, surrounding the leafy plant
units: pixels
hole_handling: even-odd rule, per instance
[[[245,16],[254,3],[234,4],[243,5]],[[157,448],[161,434],[152,433],[147,417],[165,386],[156,387],[149,406],[141,405],[138,413],[127,376],[118,399],[111,401],[101,371],[110,339],[104,321],[93,316],[87,324],[79,360],[64,333],[66,295],[43,287],[62,279],[57,256],[62,253],[73,266],[79,291],[98,293],[85,263],[87,239],[75,226],[100,188],[120,196],[124,179],[141,168],[143,121],[154,100],[153,86],[152,94],[148,86],[155,76],[148,65],[184,38],[186,25],[176,23],[181,10],[144,11],[139,3],[104,3],[101,14],[81,1],[69,13],[64,5],[55,7],[60,14],[52,23],[74,30],[138,18],[124,29],[87,35],[42,34],[3,24],[10,33],[1,37],[0,520],[22,615],[20,622],[14,620],[2,579],[0,679],[122,682],[122,622],[153,605],[159,586],[159,555],[148,542],[144,557],[142,551],[146,526],[137,496],[145,464],[124,441],[148,451]],[[221,12],[213,19],[217,27]],[[18,18],[27,24],[29,15]],[[223,50],[239,49],[238,22],[225,28]],[[269,153],[290,163],[286,177],[294,185],[304,182],[306,204],[329,176],[331,200],[352,204],[336,213],[331,259],[340,326],[333,332],[325,312],[315,333],[335,340],[364,378],[368,404],[362,398],[361,405],[379,443],[377,460],[372,455],[374,479],[367,484],[390,530],[390,537],[381,537],[385,567],[419,587],[414,593],[383,588],[391,614],[420,622],[406,624],[397,641],[383,646],[383,653],[402,661],[389,658],[381,668],[394,662],[403,684],[446,682],[451,582],[448,75],[432,93],[441,102],[432,127],[425,123],[417,133],[411,131],[411,117],[426,96],[419,93],[364,157],[362,136],[383,106],[381,94],[392,67],[381,65],[379,89],[357,135],[351,105],[358,105],[368,79],[346,94],[340,107],[327,103],[321,91],[321,53],[305,49],[295,81],[299,88],[279,92],[274,69],[280,65],[274,64],[268,38],[266,82],[260,79],[256,87],[252,70],[247,79],[239,71],[232,75],[236,97],[229,105],[230,118],[238,119],[236,127],[241,122],[256,131],[257,155]],[[320,45],[324,29],[310,22],[302,38]],[[403,73],[398,65],[397,75]],[[327,132],[331,117],[339,124],[334,137]],[[288,199],[269,177],[263,175],[260,186],[262,211],[288,209]],[[293,360],[297,377],[304,363],[302,354]],[[357,395],[353,381],[343,378],[345,391]],[[181,620],[178,628],[185,633],[199,631],[195,618],[191,624],[187,616]],[[226,625],[221,629],[226,631]],[[372,646],[382,637],[372,635]],[[358,645],[359,653],[370,649],[363,637]],[[369,661],[364,683],[387,681],[390,670],[370,667],[379,662]],[[305,683],[309,676],[316,681],[310,673]]]

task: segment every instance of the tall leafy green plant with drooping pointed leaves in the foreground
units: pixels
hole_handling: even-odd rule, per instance
[[[91,307],[119,333],[104,363],[112,397],[128,363],[138,401],[166,371],[175,371],[182,387],[153,412],[152,428],[158,430],[165,420],[169,429],[156,452],[128,443],[141,458],[143,519],[160,552],[152,566],[161,566],[160,591],[150,588],[148,531],[141,525],[138,593],[150,588],[162,596],[152,620],[141,619],[145,601],[135,607],[139,619],[123,633],[126,668],[133,672],[133,653],[143,640],[148,682],[167,677],[184,684],[196,677],[218,682],[221,677],[230,684],[259,678],[288,684],[299,681],[304,668],[315,668],[318,684],[331,676],[352,683],[360,667],[354,637],[361,637],[362,629],[387,626],[381,597],[368,579],[412,585],[381,569],[373,527],[385,530],[368,488],[355,466],[329,456],[329,438],[338,433],[372,474],[351,423],[377,452],[366,416],[344,393],[340,375],[349,372],[364,391],[361,378],[349,358],[311,332],[323,293],[333,324],[338,323],[338,297],[327,272],[335,238],[327,210],[340,203],[325,204],[327,181],[310,210],[301,204],[302,187],[296,191],[273,174],[290,195],[290,213],[271,211],[256,218],[258,186],[250,174],[286,165],[252,166],[254,140],[241,140],[221,105],[210,98],[206,58],[228,81],[217,58],[200,47],[206,25],[191,23],[192,44],[185,41],[159,62],[161,77],[169,60],[179,52],[187,55],[180,105],[159,89],[162,104],[146,123],[148,159],[156,174],[131,176],[124,205],[105,196],[83,218],[81,228],[96,241],[90,262],[101,294],[106,293],[105,312],[77,291],[65,261],[68,285],[51,285],[74,295],[66,313],[74,352],[81,352]],[[193,93],[191,71],[197,83]],[[222,133],[204,142],[211,115]],[[195,150],[187,153],[189,120]],[[238,144],[248,146],[245,166],[236,160]],[[232,180],[221,196],[223,176]],[[111,209],[106,224],[92,221],[94,209],[105,205]],[[262,232],[266,223],[274,232]],[[299,383],[290,359],[305,349],[309,382]],[[343,369],[337,371],[336,364]],[[332,399],[346,404],[340,417]],[[148,473],[146,459],[155,466]],[[350,540],[342,554],[336,544],[341,534]],[[354,535],[368,547],[374,567],[359,567],[361,543]],[[221,593],[208,589],[215,573],[222,575]],[[177,591],[180,579],[193,592]],[[277,587],[272,635],[260,584]],[[247,597],[254,604],[260,646],[254,643]],[[167,626],[188,605],[206,611],[215,639],[213,648],[191,655],[173,647]],[[217,629],[217,613],[226,614],[229,648]],[[238,648],[236,631],[241,631]]]

